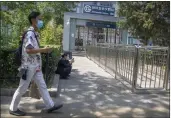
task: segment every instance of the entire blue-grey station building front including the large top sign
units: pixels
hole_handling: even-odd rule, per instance
[[[128,44],[127,30],[118,29],[116,1],[79,2],[64,14],[63,50],[84,50],[87,44]]]

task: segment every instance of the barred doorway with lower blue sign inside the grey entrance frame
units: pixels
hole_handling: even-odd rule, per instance
[[[75,50],[84,51],[86,45],[99,43],[118,44],[121,38],[121,31],[114,23],[86,22],[86,26],[76,26]]]

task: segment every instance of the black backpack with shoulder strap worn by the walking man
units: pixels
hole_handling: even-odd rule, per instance
[[[14,60],[14,61],[15,61],[15,63],[16,63],[17,66],[21,66],[23,42],[24,42],[25,35],[27,34],[28,31],[32,31],[32,32],[34,33],[34,35],[35,35],[36,40],[37,40],[37,36],[36,36],[34,30],[27,30],[26,32],[23,33],[22,39],[21,39],[21,41],[19,42],[19,47],[18,47],[18,48],[15,50],[15,52],[14,52],[14,55],[15,55],[15,57],[14,57],[15,60]],[[38,45],[39,45],[38,40],[37,40],[37,43],[38,43]]]

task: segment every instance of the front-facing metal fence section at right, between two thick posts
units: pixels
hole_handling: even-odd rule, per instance
[[[170,89],[169,49],[162,47],[138,49],[136,88]]]

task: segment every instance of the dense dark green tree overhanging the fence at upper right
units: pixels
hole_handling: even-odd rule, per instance
[[[170,2],[120,1],[118,15],[125,17],[124,23],[121,23],[123,28],[142,39],[144,44],[152,39],[155,45],[169,46]]]

